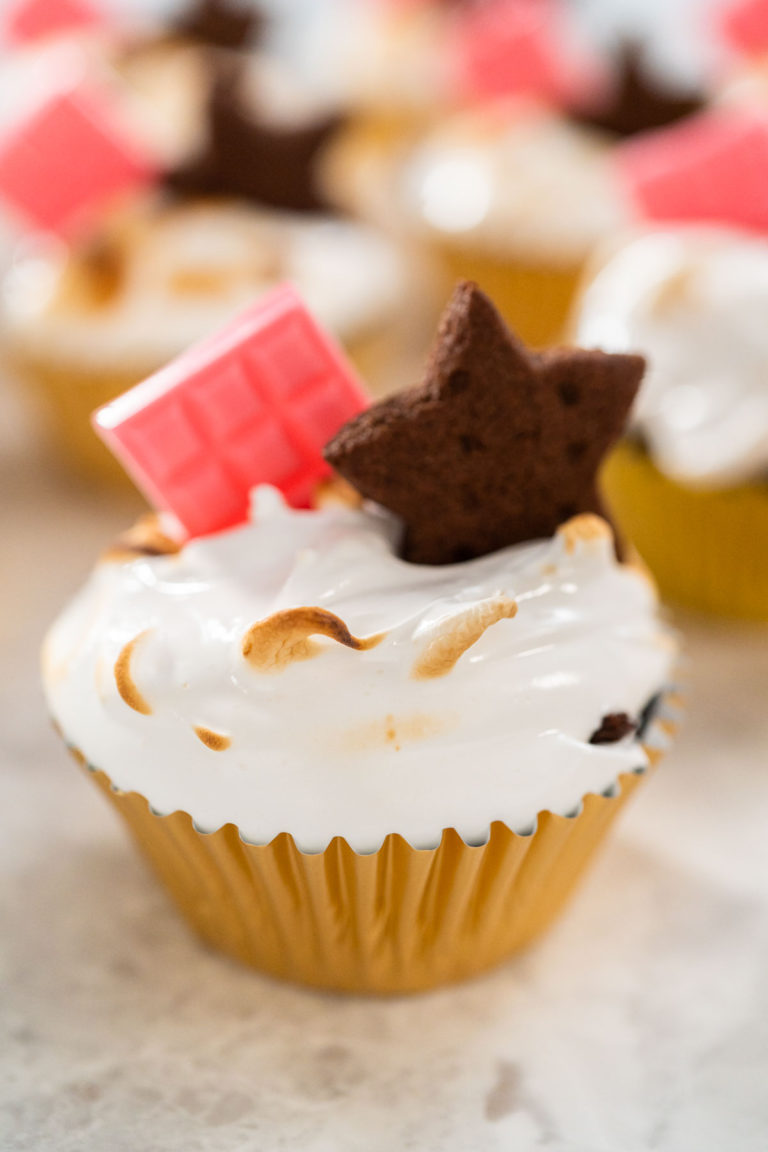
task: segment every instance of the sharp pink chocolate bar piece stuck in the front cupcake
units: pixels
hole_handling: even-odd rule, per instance
[[[248,518],[274,484],[306,507],[322,448],[370,401],[289,285],[93,416],[137,486],[190,537]]]

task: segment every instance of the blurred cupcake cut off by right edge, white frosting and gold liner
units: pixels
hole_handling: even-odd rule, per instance
[[[768,620],[768,243],[714,227],[625,240],[588,276],[575,339],[648,372],[603,473],[670,599]]]

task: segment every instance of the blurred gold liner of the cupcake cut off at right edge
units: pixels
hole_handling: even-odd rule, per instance
[[[768,484],[700,492],[619,444],[602,484],[617,524],[662,596],[689,608],[768,621]]]

